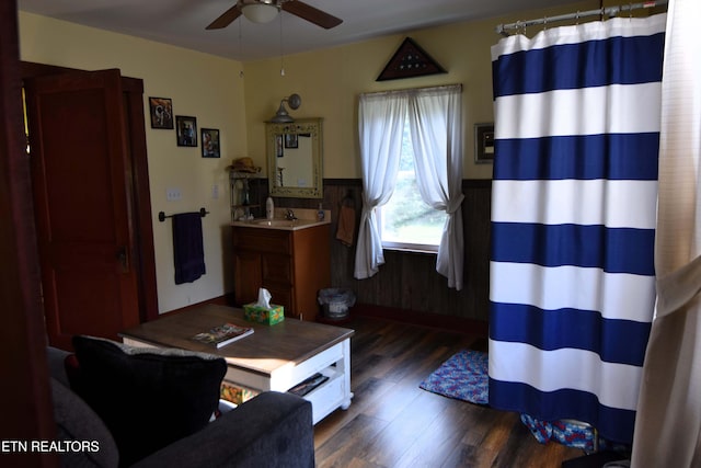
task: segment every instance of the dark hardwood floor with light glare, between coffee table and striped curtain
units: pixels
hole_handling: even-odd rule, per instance
[[[486,340],[375,318],[353,318],[352,388],[346,411],[314,429],[323,467],[560,467],[582,450],[539,444],[516,413],[418,388],[462,349]]]

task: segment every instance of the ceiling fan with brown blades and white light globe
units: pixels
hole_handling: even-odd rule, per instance
[[[280,10],[326,30],[343,23],[343,20],[299,0],[238,0],[237,4],[225,11],[221,16],[212,21],[206,28],[220,30],[227,27],[242,14],[254,23],[267,23],[273,21]]]

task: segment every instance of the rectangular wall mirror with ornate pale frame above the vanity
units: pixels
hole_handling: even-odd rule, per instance
[[[271,195],[323,197],[321,118],[266,124],[267,176]]]

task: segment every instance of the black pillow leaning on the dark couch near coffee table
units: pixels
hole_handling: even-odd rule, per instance
[[[182,350],[137,350],[74,336],[71,387],[102,418],[122,466],[204,427],[219,401],[222,358]]]

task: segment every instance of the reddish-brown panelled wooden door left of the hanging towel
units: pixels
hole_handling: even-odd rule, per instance
[[[49,343],[139,323],[131,174],[118,70],[25,81]]]

